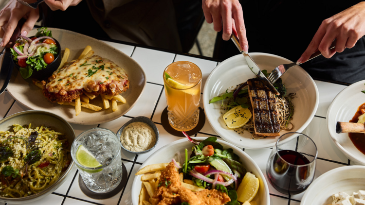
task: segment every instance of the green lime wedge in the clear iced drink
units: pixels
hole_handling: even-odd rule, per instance
[[[76,151],[76,160],[77,162],[87,168],[98,168],[101,167],[102,165],[96,160],[96,158],[94,157],[94,155],[92,155],[89,150],[87,150],[83,145],[80,145],[77,148]],[[102,171],[103,169],[99,169],[99,170],[86,170],[86,169],[82,169],[83,171],[87,171],[89,173],[94,173],[94,172],[99,172]]]

